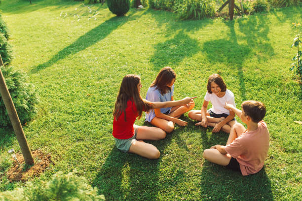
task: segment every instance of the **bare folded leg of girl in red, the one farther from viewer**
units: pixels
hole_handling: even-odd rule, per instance
[[[158,140],[166,137],[166,132],[160,128],[149,127],[149,126],[137,126],[136,139],[151,139]]]

